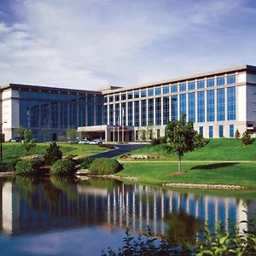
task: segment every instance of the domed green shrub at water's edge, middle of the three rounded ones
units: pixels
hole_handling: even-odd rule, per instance
[[[77,172],[76,166],[68,159],[56,160],[50,168],[50,174],[57,176],[73,175],[75,172]]]

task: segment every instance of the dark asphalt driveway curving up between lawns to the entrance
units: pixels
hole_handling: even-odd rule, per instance
[[[138,148],[143,148],[145,145],[143,144],[113,144],[115,149],[108,150],[106,152],[98,153],[98,154],[92,154],[89,157],[90,158],[100,158],[100,157],[115,157],[120,154],[125,154],[127,152],[136,150]]]

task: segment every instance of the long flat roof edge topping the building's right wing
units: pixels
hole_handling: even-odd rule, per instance
[[[235,73],[238,71],[248,71],[248,72],[256,74],[256,67],[251,66],[251,65],[243,65],[240,67],[220,69],[218,71],[199,73],[199,74],[189,75],[189,76],[180,77],[180,78],[176,78],[176,79],[166,79],[166,80],[153,82],[153,83],[131,85],[131,86],[123,87],[121,89],[116,89],[116,90],[105,90],[105,91],[102,91],[102,94],[106,95],[106,94],[112,94],[112,93],[122,92],[122,91],[126,91],[126,90],[137,90],[137,89],[154,86],[154,85],[171,84],[171,83],[183,82],[183,81],[192,80],[192,79],[202,79],[202,78],[210,77],[213,75],[218,75],[218,74],[220,75],[220,74],[224,74],[224,73]]]

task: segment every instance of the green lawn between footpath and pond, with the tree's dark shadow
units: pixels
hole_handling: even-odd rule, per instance
[[[215,183],[243,185],[256,188],[255,163],[183,163],[182,175],[177,172],[177,163],[172,162],[124,162],[120,176],[133,176],[141,183]]]

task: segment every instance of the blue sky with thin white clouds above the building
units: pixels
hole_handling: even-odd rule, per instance
[[[0,0],[0,84],[96,90],[256,65],[255,0]]]

